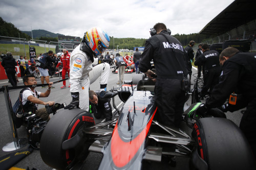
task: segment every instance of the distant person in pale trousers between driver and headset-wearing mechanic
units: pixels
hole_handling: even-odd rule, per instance
[[[120,84],[120,80],[121,80],[121,83],[123,83],[124,70],[125,70],[125,67],[127,66],[127,64],[125,63],[125,61],[123,60],[123,57],[120,56],[119,53],[116,54],[114,61],[115,61],[117,68],[119,68],[118,74],[117,74],[118,81],[116,84]]]

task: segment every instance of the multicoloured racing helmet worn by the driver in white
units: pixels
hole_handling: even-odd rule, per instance
[[[91,48],[95,56],[101,55],[110,44],[108,33],[96,27],[84,33],[83,40]]]

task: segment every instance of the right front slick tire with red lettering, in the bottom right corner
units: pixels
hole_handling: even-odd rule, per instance
[[[206,169],[256,169],[247,139],[231,120],[201,118],[195,123],[192,136],[197,142],[195,152],[206,162]],[[196,167],[194,169],[205,169],[198,167],[198,160],[193,157],[190,163]]]

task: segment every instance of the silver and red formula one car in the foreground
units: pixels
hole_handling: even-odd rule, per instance
[[[81,109],[57,112],[41,137],[42,160],[56,169],[83,169],[89,152],[97,152],[103,154],[98,169],[143,169],[148,161],[161,161],[163,156],[190,157],[191,169],[255,169],[244,135],[230,120],[198,115],[201,103],[194,103],[183,113],[186,124],[193,127],[191,135],[161,125],[154,84],[125,83],[131,87],[104,96],[112,98],[115,108],[115,95],[125,102],[111,122],[95,125],[92,114]],[[110,139],[102,139],[105,136]]]

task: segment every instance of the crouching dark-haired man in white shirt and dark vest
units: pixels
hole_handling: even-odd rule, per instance
[[[34,75],[26,75],[23,78],[23,83],[25,85],[36,85],[36,79]],[[23,105],[23,110],[24,112],[31,112],[37,115],[38,117],[41,117],[43,120],[50,120],[50,116],[47,113],[46,108],[41,108],[37,110],[38,104],[41,105],[47,105],[49,104],[50,106],[54,105],[53,101],[48,101],[44,102],[39,100],[38,98],[47,98],[51,92],[51,87],[52,87],[53,82],[49,82],[48,88],[46,92],[39,92],[35,90],[35,87],[29,87],[23,89],[22,93],[22,105]]]

